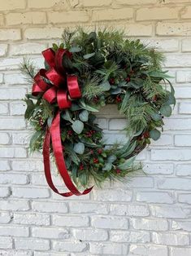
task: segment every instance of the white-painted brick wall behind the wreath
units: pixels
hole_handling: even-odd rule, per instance
[[[139,157],[147,175],[63,199],[47,188],[41,155],[28,153],[21,99],[31,88],[18,64],[29,55],[41,66],[63,27],[98,22],[166,53],[177,104]],[[0,0],[0,56],[0,255],[191,255],[191,1]],[[100,125],[123,139],[124,120],[110,110]]]

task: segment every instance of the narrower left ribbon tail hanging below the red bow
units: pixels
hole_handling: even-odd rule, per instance
[[[50,130],[46,130],[46,137],[43,143],[43,157],[44,157],[44,168],[45,168],[45,175],[46,175],[46,181],[49,184],[49,187],[60,196],[68,197],[72,196],[72,192],[65,192],[60,193],[57,188],[55,188],[51,172],[50,172]]]

